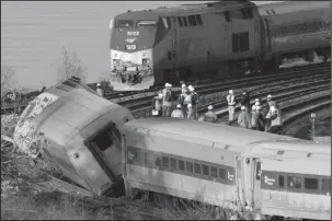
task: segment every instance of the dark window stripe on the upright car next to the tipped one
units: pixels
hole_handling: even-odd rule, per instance
[[[128,164],[167,171],[230,186],[236,185],[236,171],[232,166],[139,149],[130,146],[128,146],[127,149]]]

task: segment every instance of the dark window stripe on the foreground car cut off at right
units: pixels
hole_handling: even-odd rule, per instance
[[[261,188],[278,191],[330,196],[331,176],[262,171]]]

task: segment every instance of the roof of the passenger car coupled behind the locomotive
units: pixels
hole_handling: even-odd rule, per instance
[[[328,1],[285,1],[257,5],[259,13],[272,25],[331,16]],[[304,15],[304,13],[306,13]]]

